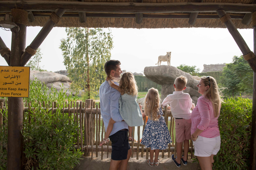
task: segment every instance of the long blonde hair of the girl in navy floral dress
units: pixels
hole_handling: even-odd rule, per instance
[[[159,112],[159,105],[160,105],[160,97],[158,94],[158,90],[155,88],[151,88],[148,90],[147,95],[145,96],[144,101],[144,114],[148,116],[151,120],[157,121]]]

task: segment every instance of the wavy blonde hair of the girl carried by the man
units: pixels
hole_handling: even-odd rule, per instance
[[[119,88],[121,94],[127,93],[129,95],[137,96],[138,86],[131,72],[122,75],[121,80],[119,81]]]

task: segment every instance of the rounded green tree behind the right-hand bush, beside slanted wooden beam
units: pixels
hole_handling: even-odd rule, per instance
[[[236,96],[240,93],[252,94],[253,70],[241,55],[234,56],[233,61],[227,64],[222,71],[222,86],[226,96]]]

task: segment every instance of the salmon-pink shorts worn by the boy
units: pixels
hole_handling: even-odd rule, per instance
[[[176,141],[183,142],[191,139],[191,119],[175,119]]]

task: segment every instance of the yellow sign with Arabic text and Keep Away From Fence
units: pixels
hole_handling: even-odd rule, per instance
[[[28,97],[30,67],[0,66],[0,97]]]

